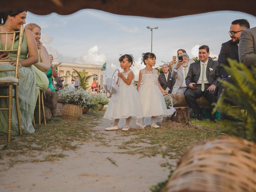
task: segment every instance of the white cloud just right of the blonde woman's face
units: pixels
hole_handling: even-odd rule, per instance
[[[56,49],[54,49],[51,44],[54,38],[48,34],[42,34],[41,41],[43,43],[43,46],[45,46],[46,50],[49,54],[51,54],[54,58],[54,60],[61,61],[63,56],[60,54]]]

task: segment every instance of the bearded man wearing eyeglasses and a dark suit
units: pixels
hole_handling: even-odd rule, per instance
[[[230,30],[228,32],[231,40],[222,43],[220,54],[218,56],[218,76],[224,81],[232,83],[232,78],[226,72],[223,66],[229,66],[228,58],[236,60],[239,62],[238,56],[238,44],[240,41],[240,35],[243,30],[249,29],[250,24],[246,19],[238,19],[234,20],[231,23]],[[223,86],[222,83],[218,82],[216,86],[215,94],[218,94],[218,99],[220,98],[220,94],[222,93]],[[225,114],[220,114],[221,119],[228,119]]]

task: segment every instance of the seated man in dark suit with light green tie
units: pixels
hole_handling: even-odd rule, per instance
[[[199,61],[190,64],[186,77],[186,85],[188,89],[185,92],[185,98],[194,114],[197,114],[199,120],[202,120],[202,109],[198,106],[196,99],[202,95],[210,102],[216,103],[217,96],[214,90],[217,84],[217,65],[218,62],[209,59],[209,47],[202,45],[199,47]],[[210,120],[215,121],[215,114],[212,114],[214,106],[211,106]]]

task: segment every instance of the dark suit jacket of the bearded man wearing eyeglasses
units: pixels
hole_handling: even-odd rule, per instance
[[[218,56],[218,74],[221,78],[229,76],[223,66],[221,66],[221,64],[229,66],[227,60],[228,58],[239,62],[238,45],[232,43],[232,40],[229,40],[226,43],[222,43],[221,45],[220,54]]]

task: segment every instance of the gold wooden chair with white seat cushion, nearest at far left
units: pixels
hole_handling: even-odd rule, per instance
[[[12,136],[12,98],[15,98],[16,102],[16,112],[17,112],[17,118],[18,118],[18,127],[19,127],[19,134],[22,135],[22,124],[20,119],[20,106],[19,106],[19,97],[18,97],[18,84],[19,84],[19,77],[18,77],[18,68],[20,63],[20,52],[21,52],[21,45],[22,45],[22,39],[23,39],[23,26],[20,26],[19,31],[14,32],[0,32],[0,34],[6,35],[6,43],[4,46],[4,50],[0,50],[0,52],[17,52],[17,58],[16,58],[16,66],[15,69],[1,69],[0,66],[0,72],[6,72],[6,71],[14,71],[14,76],[8,76],[8,77],[2,77],[0,78],[0,87],[8,89],[8,96],[0,96],[0,99],[7,98],[8,99],[8,108],[0,108],[0,110],[8,110],[8,134],[7,134],[7,141],[11,142],[11,136]],[[12,46],[10,49],[7,46],[7,35],[13,34],[13,40],[12,40]],[[14,40],[16,37],[16,34],[19,34],[19,42],[18,42],[18,48],[14,49]],[[0,60],[1,63],[11,62],[13,60]],[[15,95],[12,95],[12,89],[14,89]]]

